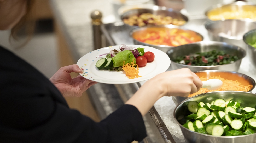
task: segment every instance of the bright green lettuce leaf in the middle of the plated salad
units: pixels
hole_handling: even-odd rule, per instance
[[[122,52],[117,53],[117,55],[115,55],[115,57],[112,58],[112,61],[114,63],[113,67],[123,66],[123,64],[127,64],[127,63],[131,64],[133,59],[134,59],[134,64],[136,64],[136,59],[132,54],[132,52],[129,50],[124,50]]]

